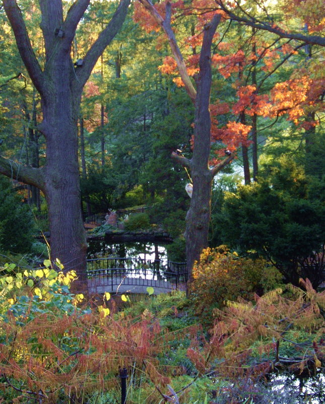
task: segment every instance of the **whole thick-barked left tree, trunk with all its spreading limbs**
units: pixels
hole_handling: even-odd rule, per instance
[[[87,279],[78,167],[81,94],[96,61],[122,25],[129,3],[130,0],[120,1],[110,22],[87,51],[83,65],[75,68],[71,45],[90,0],[76,0],[65,19],[62,0],[39,0],[46,59],[42,70],[16,0],[3,1],[21,58],[41,97],[43,119],[38,130],[46,141],[46,164],[31,168],[0,157],[0,173],[14,173],[20,181],[43,191],[49,213],[51,259],[59,258],[67,271],[76,270],[80,282]]]

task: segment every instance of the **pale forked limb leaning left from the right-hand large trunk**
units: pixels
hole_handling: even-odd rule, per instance
[[[149,11],[149,13],[154,17],[156,22],[160,25],[160,27],[164,30],[167,35],[169,45],[173,52],[174,58],[177,63],[177,68],[184,83],[187,94],[190,99],[195,102],[197,97],[197,90],[194,88],[186,70],[186,65],[183,59],[183,56],[179,50],[179,47],[176,42],[176,38],[173,30],[171,29],[170,19],[171,19],[171,4],[169,2],[166,3],[166,18],[165,20],[161,17],[161,15],[157,12],[154,5],[150,2],[150,0],[139,0],[140,3]]]

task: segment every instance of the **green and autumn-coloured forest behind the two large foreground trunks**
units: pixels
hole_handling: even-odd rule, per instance
[[[75,63],[71,75],[77,77],[82,71],[89,44],[116,5],[91,2],[87,7],[71,43]],[[293,282],[298,263],[308,266],[322,251],[325,197],[323,21],[310,5],[297,5],[293,12],[290,2],[264,7],[253,2],[245,9],[238,5],[236,17],[219,2],[223,14],[211,47],[209,162],[213,167],[224,159],[225,151],[235,157],[212,182],[209,245],[225,243],[242,254],[263,255]],[[70,6],[63,2],[63,14]],[[198,82],[204,27],[217,7],[209,2],[197,6],[194,2],[186,9],[173,3],[170,12],[178,51],[192,83]],[[34,1],[19,7],[43,68],[50,56],[44,53],[40,8]],[[164,8],[163,3],[157,6],[162,15]],[[268,18],[268,13],[275,28],[259,29],[258,19]],[[3,8],[0,18],[0,151],[10,159],[9,176],[20,199],[33,214],[46,212],[42,191],[18,182],[20,169],[16,170],[17,163],[33,168],[47,165],[46,142],[39,130],[42,102]],[[191,160],[196,105],[183,86],[184,74],[179,77],[167,31],[160,30],[157,21],[148,5],[145,11],[140,3],[132,4],[85,84],[76,120],[82,209],[90,215],[154,205],[152,222],[168,231],[177,249],[182,246],[184,251],[190,204],[184,187],[191,181],[191,171],[171,154],[178,151],[184,161]],[[9,189],[9,182],[1,181]],[[0,245],[3,251],[18,252],[19,229],[17,246],[6,240],[9,228],[13,229],[9,223],[21,219],[13,215],[9,222],[5,207],[2,204]],[[25,217],[29,223],[27,210]],[[194,216],[191,222],[195,221]],[[30,249],[28,243],[25,247],[21,252]],[[184,253],[180,258],[185,258]]]

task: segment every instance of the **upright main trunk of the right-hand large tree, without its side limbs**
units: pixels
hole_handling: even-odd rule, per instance
[[[186,214],[186,260],[188,281],[191,281],[192,268],[200,254],[208,246],[209,222],[211,213],[211,188],[213,175],[209,169],[211,148],[211,45],[219,24],[214,18],[205,26],[203,45],[200,54],[200,73],[196,80],[197,96],[194,118],[194,149],[191,159],[193,193]]]

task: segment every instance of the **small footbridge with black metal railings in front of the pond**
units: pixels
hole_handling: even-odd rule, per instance
[[[186,263],[140,257],[88,259],[87,274],[91,286],[106,286],[112,291],[121,283],[179,289],[187,281]]]

